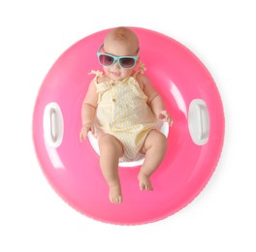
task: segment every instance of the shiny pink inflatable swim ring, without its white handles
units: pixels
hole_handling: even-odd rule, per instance
[[[174,118],[167,155],[152,175],[152,192],[139,189],[139,167],[119,168],[123,203],[112,205],[99,167],[99,156],[89,141],[80,142],[80,108],[93,76],[101,69],[96,57],[108,30],[92,34],[68,48],[54,63],[38,94],[33,116],[35,150],[42,170],[57,194],[86,216],[120,225],[163,219],[189,204],[213,173],[224,139],[224,114],[213,79],[186,47],[163,34],[132,28],[140,39],[141,60]],[[195,99],[207,104],[208,142],[192,141],[188,110]],[[59,146],[44,138],[44,110],[56,103],[63,115],[64,135]]]

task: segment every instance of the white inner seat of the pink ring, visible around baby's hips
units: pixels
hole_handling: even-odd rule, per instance
[[[166,137],[168,137],[168,134],[169,134],[169,124],[167,122],[163,123],[163,126],[161,128],[161,132]],[[90,142],[91,146],[93,147],[93,149],[96,151],[96,153],[98,155],[100,155],[98,141],[93,137],[91,132],[89,132],[89,134],[88,134],[88,139],[89,139],[89,142]],[[144,158],[142,158],[142,159],[140,159],[138,161],[133,161],[133,162],[120,162],[119,166],[120,167],[137,167],[137,166],[143,165],[143,163],[144,163]]]

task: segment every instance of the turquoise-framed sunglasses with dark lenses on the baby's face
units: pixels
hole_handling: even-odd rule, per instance
[[[139,58],[139,51],[136,56],[113,56],[112,54],[100,51],[103,46],[104,44],[99,47],[97,51],[97,56],[101,65],[111,67],[117,61],[122,68],[131,69],[135,67]]]

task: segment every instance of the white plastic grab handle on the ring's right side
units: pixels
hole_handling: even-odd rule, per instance
[[[190,136],[198,145],[208,142],[209,116],[208,107],[204,100],[195,99],[189,105],[188,128]]]

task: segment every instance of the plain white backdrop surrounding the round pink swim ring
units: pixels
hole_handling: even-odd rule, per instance
[[[254,1],[10,0],[0,3],[0,251],[256,251],[256,16]],[[40,85],[57,57],[113,26],[173,37],[207,66],[226,135],[208,186],[167,219],[100,223],[48,185],[32,142]]]

